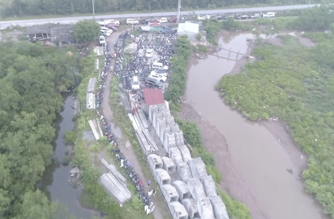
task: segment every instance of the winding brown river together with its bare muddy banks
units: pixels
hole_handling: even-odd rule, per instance
[[[253,41],[248,47],[246,39],[254,38],[253,34],[230,33],[226,38],[221,40],[226,48],[241,46],[241,53],[251,54]],[[226,60],[210,55],[193,60],[187,101],[181,104],[179,116],[198,124],[204,147],[215,155],[222,174],[220,187],[244,203],[253,219],[323,218],[320,205],[304,192],[300,173],[307,159],[287,134],[286,126],[278,121],[248,121],[225,105],[214,90],[220,77],[240,72],[249,60],[245,56],[237,61],[236,57]]]

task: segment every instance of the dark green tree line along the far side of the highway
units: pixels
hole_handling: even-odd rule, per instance
[[[320,0],[312,1],[312,3]],[[228,7],[232,5],[288,5],[308,4],[309,0],[182,0],[183,9]],[[178,0],[94,0],[95,13],[115,13],[125,11],[176,10]],[[23,17],[36,15],[74,15],[93,13],[92,0],[12,0],[3,4],[3,17]]]

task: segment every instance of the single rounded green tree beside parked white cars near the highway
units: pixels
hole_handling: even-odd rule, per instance
[[[81,20],[73,27],[74,38],[78,42],[91,42],[99,37],[100,25],[95,20]]]

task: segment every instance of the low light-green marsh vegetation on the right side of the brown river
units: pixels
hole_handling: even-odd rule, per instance
[[[329,10],[309,10],[295,22],[305,29],[328,29],[334,23]],[[317,42],[314,48],[292,36],[280,36],[284,46],[258,45],[254,56],[264,60],[221,78],[216,88],[226,103],[251,120],[278,117],[287,123],[295,143],[309,155],[303,172],[306,190],[334,218],[334,35],[306,35]]]

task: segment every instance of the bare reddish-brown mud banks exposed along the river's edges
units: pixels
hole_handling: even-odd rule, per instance
[[[249,60],[246,57],[252,54],[255,45],[256,42],[253,40],[248,42],[247,52],[241,59],[236,61],[233,69],[227,75],[241,72],[242,67]],[[196,60],[192,59],[189,63],[189,68],[194,63],[196,63]],[[181,104],[181,112],[178,113],[178,116],[186,121],[198,124],[203,137],[203,145],[215,155],[216,168],[222,174],[222,181],[219,187],[225,190],[231,197],[244,203],[250,210],[253,219],[268,219],[268,214],[256,201],[257,196],[252,186],[243,178],[240,171],[235,168],[229,154],[228,144],[224,136],[219,132],[219,129],[202,118],[199,112],[196,112],[194,107],[188,103]],[[302,181],[301,173],[307,167],[307,156],[292,140],[286,130],[287,125],[274,120],[257,121],[256,123],[265,127],[280,143],[293,164],[297,167],[294,169],[293,174],[297,175],[299,180]]]

